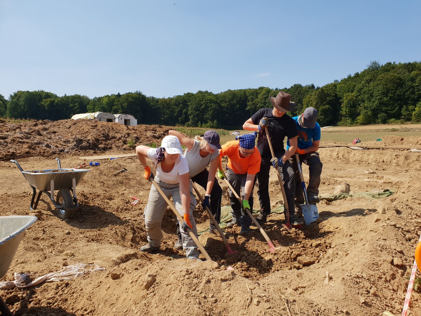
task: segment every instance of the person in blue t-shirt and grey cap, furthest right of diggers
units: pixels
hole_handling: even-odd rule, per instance
[[[323,164],[320,161],[319,153],[317,153],[320,145],[320,125],[316,122],[317,110],[314,107],[307,107],[301,115],[293,117],[293,120],[298,130],[298,149],[295,152],[299,154],[301,165],[305,163],[309,166],[308,200],[309,203],[318,203]],[[287,142],[287,150],[288,148],[289,143]],[[296,156],[292,155],[289,160],[295,174],[295,207],[299,214],[301,213],[300,204],[304,204],[304,193],[298,174]]]

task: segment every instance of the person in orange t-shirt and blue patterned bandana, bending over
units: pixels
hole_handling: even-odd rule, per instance
[[[228,156],[227,179],[231,183],[235,192],[242,196],[242,206],[229,190],[229,200],[232,207],[232,221],[226,226],[231,228],[234,225],[241,226],[241,235],[250,233],[251,218],[244,211],[249,209],[253,212],[253,188],[256,182],[256,173],[260,170],[260,153],[256,147],[257,133],[250,133],[235,137],[236,140],[226,142],[219,150],[220,159]],[[222,170],[220,160],[218,168],[219,179],[224,179],[225,174]],[[241,194],[240,194],[241,190]]]

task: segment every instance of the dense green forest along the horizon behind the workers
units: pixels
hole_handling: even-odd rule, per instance
[[[372,61],[362,72],[333,80],[325,86],[294,84],[290,88],[247,88],[218,94],[209,91],[169,98],[146,96],[140,91],[96,96],[57,96],[52,92],[16,91],[0,94],[0,116],[15,119],[63,120],[86,112],[128,113],[139,124],[163,124],[237,129],[279,91],[291,94],[298,115],[315,107],[321,126],[421,122],[421,62]]]

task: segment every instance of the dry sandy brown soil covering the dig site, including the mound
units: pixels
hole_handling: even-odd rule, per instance
[[[159,143],[168,129],[70,120],[0,123],[0,215],[32,212],[32,190],[8,159],[36,170],[57,168],[54,158],[59,157],[63,168],[71,168],[83,163],[77,158],[81,155],[130,153],[130,138],[136,144]],[[193,262],[173,249],[176,222],[169,208],[161,251],[139,251],[146,243],[143,211],[150,184],[136,158],[102,160],[77,186],[81,207],[73,219],[60,220],[49,198],[41,197],[40,220],[25,233],[1,280],[13,280],[15,272],[35,279],[76,262],[94,262],[106,270],[0,295],[16,315],[400,314],[421,231],[421,155],[341,147],[322,148],[320,157],[321,194],[333,193],[343,182],[353,192],[397,191],[381,200],[352,197],[320,203],[319,220],[303,231],[287,232],[280,225],[283,215],[270,215],[264,228],[275,253],[268,252],[256,228],[249,238],[239,236],[239,228],[228,231],[232,249],[239,251],[231,256],[220,238],[205,233],[200,239],[217,264]],[[112,175],[123,167],[128,172]],[[374,173],[366,173],[369,169]],[[282,198],[274,173],[270,185],[275,204]],[[140,202],[132,206],[131,196]],[[228,203],[224,195],[222,204]],[[208,226],[199,207],[195,217],[199,230]],[[234,270],[226,270],[228,266]],[[420,299],[413,292],[410,315],[421,315]]]

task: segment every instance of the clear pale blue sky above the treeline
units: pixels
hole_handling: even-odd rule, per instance
[[[421,1],[0,0],[0,94],[323,86],[421,60]]]

